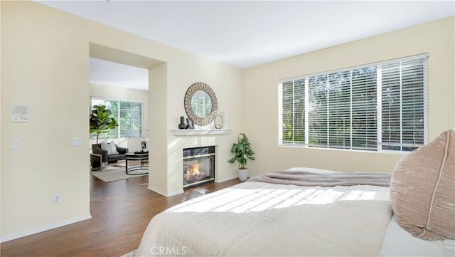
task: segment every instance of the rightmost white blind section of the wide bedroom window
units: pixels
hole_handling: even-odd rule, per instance
[[[382,67],[382,150],[414,150],[424,145],[427,79],[422,60]]]

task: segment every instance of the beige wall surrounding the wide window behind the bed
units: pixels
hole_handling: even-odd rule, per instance
[[[311,38],[309,38],[311,40]],[[429,140],[455,127],[454,17],[243,70],[243,124],[256,161],[252,174],[289,167],[392,172],[401,154],[278,146],[278,80],[429,53]]]

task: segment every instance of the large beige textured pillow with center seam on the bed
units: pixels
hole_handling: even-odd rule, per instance
[[[390,182],[398,223],[417,238],[455,239],[455,131],[402,157]]]

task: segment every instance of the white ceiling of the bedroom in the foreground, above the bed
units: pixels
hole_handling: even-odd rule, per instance
[[[38,1],[238,68],[455,15],[455,1]]]

